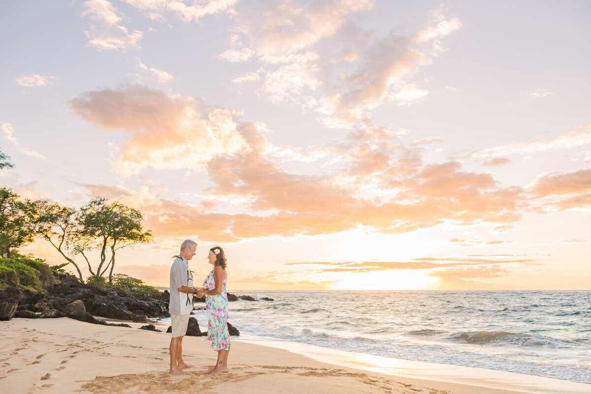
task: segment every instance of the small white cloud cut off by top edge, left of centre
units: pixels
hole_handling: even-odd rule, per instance
[[[185,22],[199,21],[205,15],[215,15],[220,12],[233,14],[232,8],[238,0],[209,0],[205,4],[193,2],[187,5],[181,0],[125,0],[129,5],[148,13],[151,19],[164,19],[164,15],[172,12]],[[203,2],[202,2],[203,3]]]

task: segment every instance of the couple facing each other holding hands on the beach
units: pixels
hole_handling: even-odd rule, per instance
[[[189,316],[193,311],[193,296],[205,296],[207,309],[207,340],[211,341],[212,349],[217,351],[217,362],[206,375],[222,373],[228,369],[230,353],[230,335],[228,333],[228,272],[226,272],[226,256],[223,249],[214,246],[209,249],[207,259],[213,268],[203,281],[202,287],[193,287],[193,272],[189,261],[195,255],[197,243],[187,239],[181,244],[181,252],[174,256],[170,267],[170,323],[173,337],[170,340],[170,373],[181,375],[184,368],[191,367],[183,360],[183,337],[189,324]]]

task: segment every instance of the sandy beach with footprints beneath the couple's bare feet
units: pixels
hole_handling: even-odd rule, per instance
[[[230,372],[203,376],[215,353],[203,337],[185,337],[184,353],[193,367],[187,375],[168,375],[170,334],[134,328],[105,327],[69,318],[0,322],[0,387],[5,393],[396,393],[509,394],[478,385],[418,379],[386,370],[368,370],[327,363],[277,347],[235,340]],[[333,354],[333,356],[335,356]],[[345,363],[346,364],[346,363]],[[361,364],[360,364],[361,365]],[[436,364],[440,366],[441,364]],[[371,363],[366,364],[371,369]],[[443,366],[453,370],[453,366]],[[466,369],[467,370],[467,369]],[[475,369],[479,370],[480,369]],[[398,371],[400,372],[400,370]],[[519,375],[519,374],[512,374]],[[538,383],[543,383],[544,378]],[[585,393],[589,385],[564,383],[564,390]],[[536,385],[532,385],[532,388]],[[587,391],[588,392],[588,391]]]

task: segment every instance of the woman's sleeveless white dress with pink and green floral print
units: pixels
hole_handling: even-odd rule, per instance
[[[213,267],[207,278],[203,281],[203,287],[211,290],[216,288],[213,278]],[[228,279],[222,282],[222,292],[218,295],[206,295],[207,309],[207,341],[212,341],[212,349],[215,351],[230,349],[230,334],[228,333],[228,294],[226,284]]]

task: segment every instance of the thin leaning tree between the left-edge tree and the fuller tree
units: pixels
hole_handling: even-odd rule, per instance
[[[46,200],[37,201],[37,217],[35,218],[35,234],[51,243],[51,246],[72,264],[82,281],[82,272],[73,258],[66,255],[73,235],[76,232],[76,210],[61,206],[59,203],[50,204]]]

